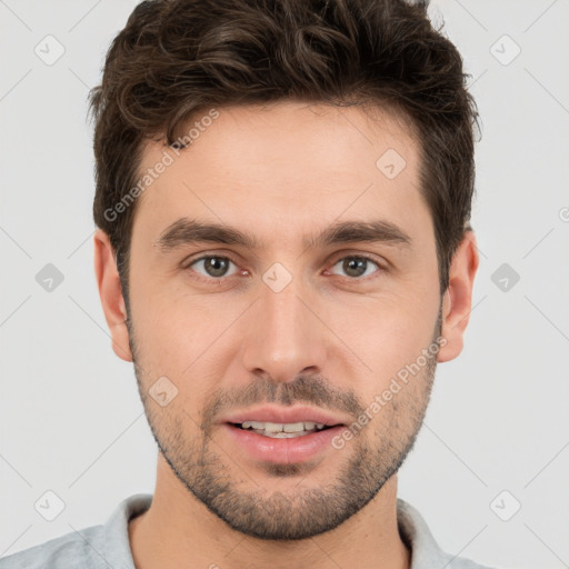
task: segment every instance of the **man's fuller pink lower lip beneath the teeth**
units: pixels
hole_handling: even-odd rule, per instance
[[[244,449],[252,458],[277,465],[292,465],[305,462],[326,448],[332,448],[332,439],[345,428],[341,425],[330,427],[323,431],[315,431],[302,437],[291,439],[274,439],[247,431],[231,423],[222,427],[239,447]]]

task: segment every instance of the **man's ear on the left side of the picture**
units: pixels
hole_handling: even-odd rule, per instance
[[[132,361],[127,329],[127,309],[122,298],[114,251],[109,236],[98,229],[94,232],[94,274],[101,298],[104,319],[112,337],[114,353],[124,361]]]

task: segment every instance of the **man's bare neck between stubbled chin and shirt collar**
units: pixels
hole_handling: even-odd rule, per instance
[[[310,539],[274,541],[230,528],[176,478],[159,455],[152,505],[130,521],[129,540],[137,569],[410,567],[397,525],[396,476],[336,529]]]

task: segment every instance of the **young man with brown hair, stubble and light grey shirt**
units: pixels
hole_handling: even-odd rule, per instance
[[[476,109],[426,6],[142,2],[91,103],[156,491],[0,566],[480,568],[397,498],[478,268]]]

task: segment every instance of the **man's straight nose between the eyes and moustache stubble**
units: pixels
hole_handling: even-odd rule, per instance
[[[279,292],[264,282],[247,322],[242,363],[248,372],[290,382],[302,372],[321,372],[327,328],[299,278]],[[305,298],[307,297],[307,298]]]

